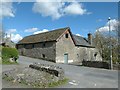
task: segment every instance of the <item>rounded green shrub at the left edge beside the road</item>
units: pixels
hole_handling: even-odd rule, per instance
[[[2,47],[2,59],[14,58],[18,59],[18,51],[16,48]]]

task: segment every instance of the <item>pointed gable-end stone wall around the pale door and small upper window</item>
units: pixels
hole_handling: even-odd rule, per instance
[[[65,34],[68,34],[68,38],[65,37]],[[64,54],[68,54],[68,63],[74,62],[74,43],[70,36],[69,31],[66,31],[56,43],[56,62],[64,63]]]

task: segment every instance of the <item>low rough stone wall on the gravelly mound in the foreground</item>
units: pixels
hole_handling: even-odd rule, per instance
[[[34,63],[34,64],[30,64],[29,67],[55,75],[59,77],[59,80],[64,79],[64,70],[58,66]]]

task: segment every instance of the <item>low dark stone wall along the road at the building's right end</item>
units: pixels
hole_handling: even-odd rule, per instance
[[[101,62],[101,61],[83,61],[82,65],[88,67],[109,69],[109,64],[107,62]]]

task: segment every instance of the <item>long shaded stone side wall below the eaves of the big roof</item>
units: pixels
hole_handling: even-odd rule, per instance
[[[18,51],[20,55],[33,58],[41,58],[55,62],[55,45],[55,42],[18,45]]]

